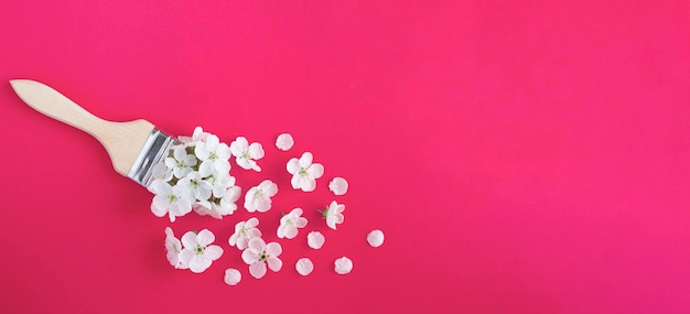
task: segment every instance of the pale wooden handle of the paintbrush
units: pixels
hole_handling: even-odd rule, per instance
[[[31,108],[96,138],[108,151],[115,170],[122,175],[128,175],[154,128],[145,120],[112,122],[100,119],[60,91],[35,80],[12,79],[10,84]]]

